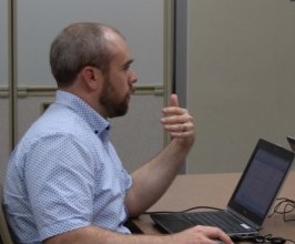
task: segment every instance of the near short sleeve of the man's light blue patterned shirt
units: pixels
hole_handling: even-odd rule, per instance
[[[94,165],[71,135],[44,138],[30,150],[24,179],[41,240],[91,224]]]

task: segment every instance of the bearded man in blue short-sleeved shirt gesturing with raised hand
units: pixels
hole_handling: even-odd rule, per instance
[[[173,94],[161,120],[173,140],[126,173],[109,141],[108,119],[128,112],[136,82],[132,61],[122,34],[104,24],[74,23],[53,41],[55,102],[13,151],[6,179],[8,220],[19,243],[231,243],[214,227],[150,236],[124,226],[165,192],[194,142],[192,116]]]

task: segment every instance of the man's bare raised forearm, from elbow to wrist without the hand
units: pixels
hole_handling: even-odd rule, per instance
[[[131,216],[142,214],[165,193],[185,162],[190,149],[185,150],[172,141],[159,155],[132,173],[133,185],[125,200]]]

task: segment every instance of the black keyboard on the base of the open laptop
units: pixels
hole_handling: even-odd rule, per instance
[[[231,217],[226,212],[200,212],[200,213],[186,213],[184,217],[193,225],[211,225],[218,226],[227,233],[245,232],[247,228],[241,226],[241,222]],[[248,231],[253,231],[250,228]]]

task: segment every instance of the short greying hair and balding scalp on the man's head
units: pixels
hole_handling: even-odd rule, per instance
[[[71,85],[78,73],[87,65],[106,72],[113,58],[113,39],[124,39],[112,27],[79,22],[64,28],[50,49],[51,72],[59,88]]]

